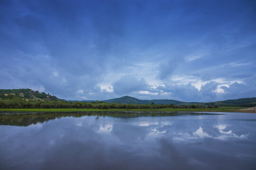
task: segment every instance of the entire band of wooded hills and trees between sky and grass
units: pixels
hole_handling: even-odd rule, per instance
[[[0,108],[81,108],[81,109],[163,109],[163,108],[218,108],[254,107],[256,97],[218,102],[181,102],[176,100],[140,100],[130,96],[104,101],[66,101],[49,93],[31,89],[0,89]]]

